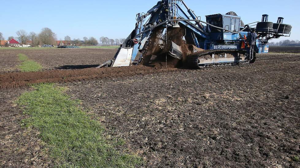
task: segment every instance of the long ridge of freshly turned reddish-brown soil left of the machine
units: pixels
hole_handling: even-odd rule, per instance
[[[13,72],[0,74],[0,88],[19,88],[33,83],[46,82],[80,82],[97,79],[124,78],[134,75],[147,75],[153,73],[176,71],[176,68],[160,66],[131,66],[116,68],[86,68],[75,70],[49,70],[36,72]]]

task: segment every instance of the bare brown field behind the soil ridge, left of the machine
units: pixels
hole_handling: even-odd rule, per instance
[[[0,50],[0,72],[18,70],[18,54],[40,63],[44,69],[95,67],[113,58],[117,49],[6,49]],[[80,66],[78,66],[80,65]]]

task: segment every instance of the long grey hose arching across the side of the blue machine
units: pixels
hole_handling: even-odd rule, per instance
[[[156,27],[159,27],[159,26],[161,26],[161,25],[163,25],[163,24],[166,24],[166,23],[172,22],[172,21],[195,21],[195,22],[201,22],[201,23],[210,25],[211,27],[214,27],[214,28],[217,28],[217,29],[220,29],[220,30],[225,30],[225,31],[228,31],[228,32],[234,33],[234,34],[240,33],[240,32],[242,32],[242,31],[244,31],[245,29],[249,28],[248,25],[245,25],[244,28],[243,28],[242,30],[240,30],[240,31],[230,31],[230,30],[226,30],[226,29],[223,28],[223,27],[217,27],[217,26],[214,26],[214,25],[209,24],[209,23],[207,23],[207,22],[205,22],[205,21],[202,21],[202,20],[196,20],[196,19],[169,19],[169,20],[166,20],[166,21],[164,21],[164,22],[162,22],[162,23],[160,23],[160,24],[157,24],[157,25],[155,25],[155,26],[152,26],[152,27],[148,28],[147,30],[142,31],[141,33],[137,34],[134,38],[137,38],[137,37],[139,37],[140,35],[142,35],[143,33],[147,32],[147,31],[150,31],[150,30],[152,30],[152,29],[154,29],[154,28],[156,28]]]

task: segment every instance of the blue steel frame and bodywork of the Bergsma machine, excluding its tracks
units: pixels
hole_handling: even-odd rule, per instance
[[[140,52],[140,59],[148,50],[149,39],[157,31],[156,27],[183,27],[186,30],[184,36],[188,44],[205,50],[248,50],[247,39],[252,28],[249,25],[241,25],[241,17],[228,14],[214,14],[206,16],[206,22],[201,21],[195,13],[183,2],[183,0],[161,0],[147,13],[137,14],[135,29],[121,45],[113,60],[109,60],[101,66],[112,66],[118,57],[130,64],[136,60]],[[202,25],[201,23],[206,24]],[[254,22],[256,23],[256,22]],[[281,36],[274,32],[259,34],[256,40],[256,53],[267,53],[268,40]],[[159,40],[156,45],[159,45]],[[173,45],[173,44],[172,44]],[[172,46],[172,51],[179,47]],[[174,54],[175,55],[175,54]],[[127,61],[128,62],[128,61]],[[99,66],[99,67],[101,67]],[[123,66],[129,66],[128,63]]]

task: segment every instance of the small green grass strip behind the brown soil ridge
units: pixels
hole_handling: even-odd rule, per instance
[[[33,60],[29,60],[28,57],[24,54],[18,54],[18,57],[20,61],[23,61],[19,66],[19,68],[23,72],[39,71],[40,69],[43,68],[39,63]]]

